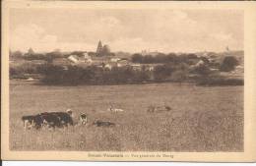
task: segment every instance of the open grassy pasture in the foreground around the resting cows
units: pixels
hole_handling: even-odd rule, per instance
[[[169,112],[149,113],[151,105]],[[124,112],[110,113],[113,105]],[[89,125],[24,131],[21,117],[44,111],[89,115]],[[95,120],[115,127],[93,126]],[[151,83],[48,86],[10,82],[11,150],[243,151],[243,86]]]

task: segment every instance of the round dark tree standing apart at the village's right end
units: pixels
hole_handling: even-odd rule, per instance
[[[224,57],[224,61],[221,65],[221,71],[222,72],[230,72],[234,70],[235,66],[238,65],[238,61],[235,57],[233,56],[226,56]]]

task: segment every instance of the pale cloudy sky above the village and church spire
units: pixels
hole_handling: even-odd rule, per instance
[[[237,10],[11,9],[12,51],[198,52],[243,50]]]

